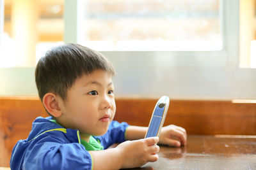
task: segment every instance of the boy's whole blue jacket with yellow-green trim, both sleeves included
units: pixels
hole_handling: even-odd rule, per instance
[[[51,117],[36,118],[28,138],[16,143],[11,169],[92,169],[92,157],[81,145],[79,131],[64,129],[50,120]],[[125,141],[127,126],[113,121],[106,134],[94,138],[106,149],[113,143]]]

